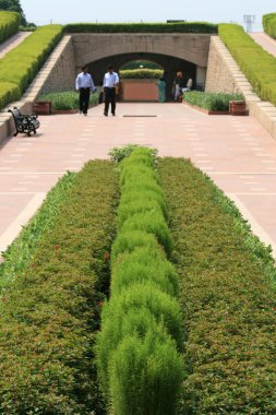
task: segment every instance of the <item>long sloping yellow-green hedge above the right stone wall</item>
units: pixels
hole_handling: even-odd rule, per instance
[[[218,34],[255,93],[262,99],[276,105],[276,58],[259,46],[237,24],[219,24]]]

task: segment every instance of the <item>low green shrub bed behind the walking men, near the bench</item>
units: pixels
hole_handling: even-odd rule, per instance
[[[75,91],[52,92],[40,95],[37,100],[50,100],[52,109],[79,109],[79,94]],[[91,94],[91,105],[98,104],[98,94]]]

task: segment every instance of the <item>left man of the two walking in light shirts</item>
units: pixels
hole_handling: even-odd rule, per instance
[[[87,116],[91,92],[96,91],[92,75],[87,73],[87,66],[83,66],[82,72],[79,73],[75,80],[75,88],[80,93],[80,114],[84,116]]]

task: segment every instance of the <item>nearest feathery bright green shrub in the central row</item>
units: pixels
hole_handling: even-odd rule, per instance
[[[175,343],[153,325],[143,340],[125,337],[110,368],[115,414],[173,415],[182,380],[181,364]]]

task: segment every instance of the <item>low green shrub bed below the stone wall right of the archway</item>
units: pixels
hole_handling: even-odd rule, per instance
[[[200,91],[185,92],[183,94],[183,102],[208,110],[228,110],[229,100],[243,100],[240,94],[224,94],[224,93],[207,93]]]

